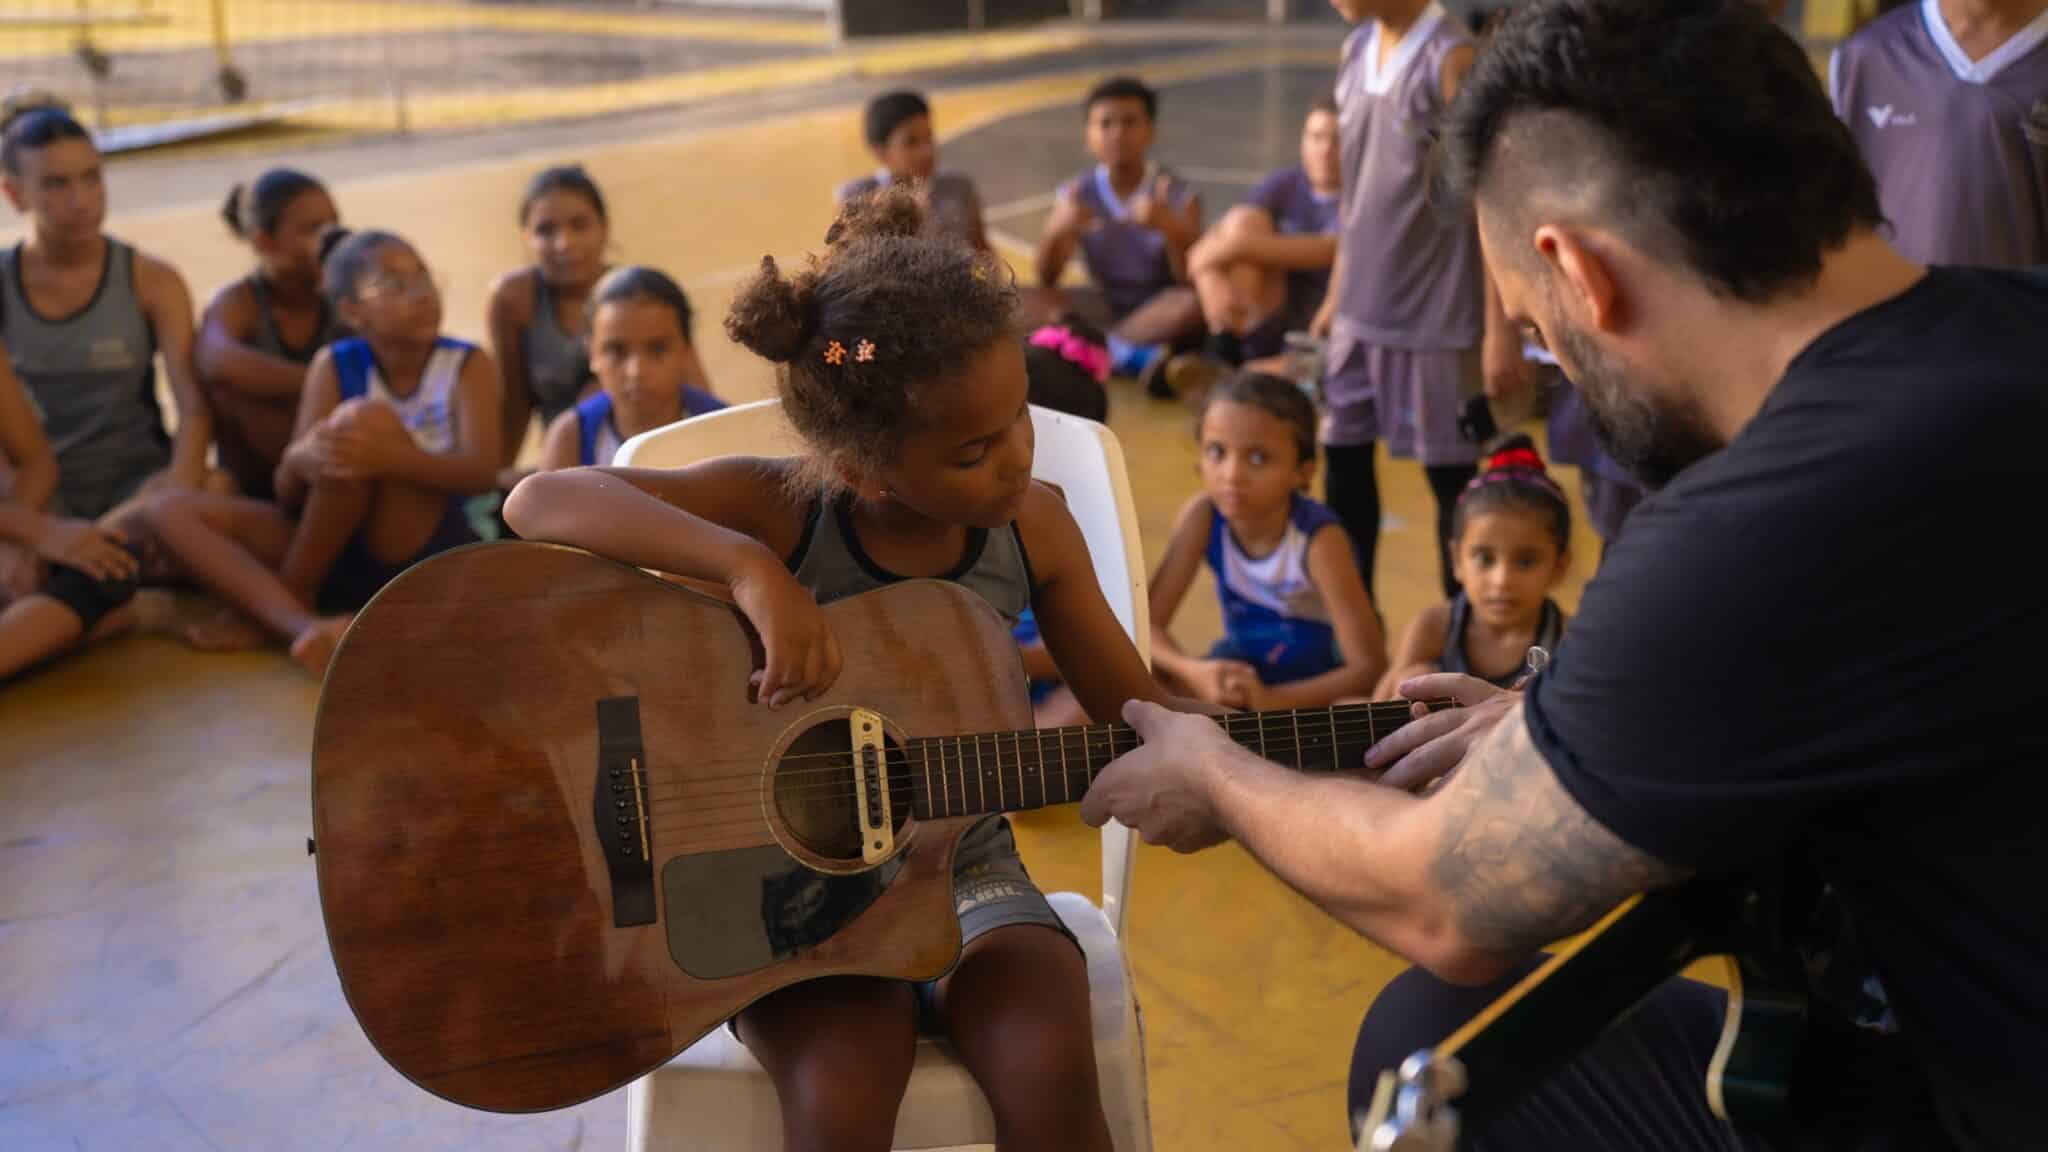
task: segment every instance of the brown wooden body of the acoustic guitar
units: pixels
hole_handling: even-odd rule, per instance
[[[356,617],[313,732],[315,861],[342,990],[391,1066],[461,1105],[559,1109],[778,988],[958,959],[975,818],[899,806],[866,863],[848,724],[1028,730],[1016,642],[930,580],[825,615],[844,672],[778,711],[750,701],[731,605],[567,547],[455,549]]]

